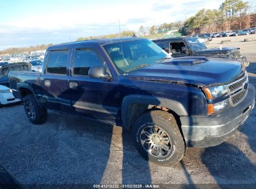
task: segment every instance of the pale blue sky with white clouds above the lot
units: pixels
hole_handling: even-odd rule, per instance
[[[184,21],[224,0],[0,0],[0,50],[70,42],[164,22]]]

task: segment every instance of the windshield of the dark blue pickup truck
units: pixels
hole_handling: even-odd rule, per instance
[[[117,42],[103,47],[122,73],[153,65],[168,57],[168,53],[147,39]]]

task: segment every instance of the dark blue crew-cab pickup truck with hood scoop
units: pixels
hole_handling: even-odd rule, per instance
[[[47,109],[132,129],[147,160],[175,164],[186,147],[218,145],[244,124],[255,88],[223,58],[172,58],[150,40],[96,39],[47,49],[42,73],[11,71],[9,84],[35,124]]]

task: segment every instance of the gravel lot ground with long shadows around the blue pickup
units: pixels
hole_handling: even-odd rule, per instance
[[[245,56],[256,62],[256,42],[240,42],[244,37],[252,35],[230,37],[232,42],[225,45],[239,46]],[[223,39],[214,39],[209,46],[219,46],[220,40]],[[251,63],[248,71],[256,73],[256,64]],[[250,82],[256,86],[254,76],[250,76]],[[206,149],[189,148],[174,167],[148,164],[136,151],[130,133],[122,132],[121,127],[53,111],[49,111],[45,124],[34,125],[26,118],[22,104],[1,108],[0,118],[0,165],[23,184],[164,184],[159,188],[256,186],[255,109],[242,130],[227,142]]]

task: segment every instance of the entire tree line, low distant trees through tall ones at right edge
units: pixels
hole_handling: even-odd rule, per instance
[[[194,35],[205,32],[219,32],[235,29],[255,27],[256,14],[249,2],[242,0],[225,0],[219,9],[201,9],[186,21],[164,23],[151,27],[140,26],[138,35],[151,37],[166,33],[169,30],[179,29],[183,35]]]

